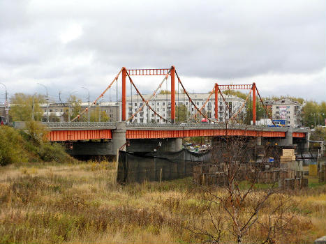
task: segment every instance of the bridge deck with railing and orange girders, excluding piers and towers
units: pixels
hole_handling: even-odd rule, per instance
[[[75,141],[87,139],[112,139],[116,122],[44,123],[51,141]],[[218,137],[225,135],[246,137],[285,137],[288,128],[262,127],[258,125],[225,124],[151,124],[126,123],[126,139]],[[306,137],[308,130],[293,129],[293,137]]]

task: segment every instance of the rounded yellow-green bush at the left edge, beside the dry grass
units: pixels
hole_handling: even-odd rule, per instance
[[[0,126],[0,165],[8,165],[13,162],[25,162],[22,136],[6,125]]]

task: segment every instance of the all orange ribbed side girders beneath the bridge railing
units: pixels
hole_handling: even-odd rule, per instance
[[[126,139],[158,139],[184,137],[286,137],[282,131],[207,129],[207,130],[126,130]],[[293,137],[304,138],[304,132],[293,132]],[[112,130],[52,130],[47,135],[50,141],[78,141],[89,139],[112,139]]]

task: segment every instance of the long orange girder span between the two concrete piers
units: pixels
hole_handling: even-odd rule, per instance
[[[286,132],[257,130],[127,130],[126,139],[178,138],[178,137],[285,137]]]

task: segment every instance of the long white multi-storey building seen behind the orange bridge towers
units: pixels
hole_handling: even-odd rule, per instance
[[[149,100],[151,95],[143,95],[145,100]],[[196,107],[201,108],[205,104],[209,94],[208,93],[193,93],[189,94],[191,100],[195,103]],[[225,102],[228,103],[226,107],[225,102],[220,94],[218,94],[218,121],[223,122],[225,119],[228,119],[235,114],[240,107],[244,104],[245,100],[238,98],[237,96],[224,95]],[[144,102],[138,95],[129,96],[126,98],[126,117],[130,118],[135,112],[138,111],[140,107],[144,105]],[[164,119],[170,120],[171,118],[171,100],[170,94],[157,94],[154,98],[151,99],[149,105],[156,111],[157,114],[160,114]],[[189,102],[188,98],[184,94],[175,95],[175,105],[180,106],[184,105],[187,109],[186,121],[190,122],[191,119],[198,114],[197,109]],[[228,111],[230,109],[231,113]],[[202,109],[202,112],[207,115],[210,119],[215,120],[215,99],[214,96],[209,99],[205,107]],[[246,107],[243,106],[241,109],[240,116],[246,112]],[[176,114],[177,116],[177,114]],[[165,123],[159,116],[157,116],[151,109],[145,106],[142,111],[135,114],[132,120],[134,123]],[[176,121],[176,122],[185,122],[185,121]]]

